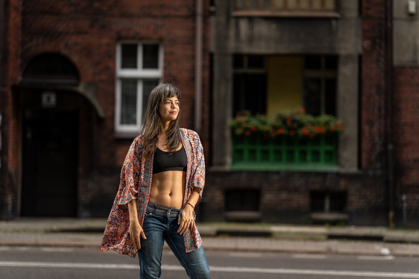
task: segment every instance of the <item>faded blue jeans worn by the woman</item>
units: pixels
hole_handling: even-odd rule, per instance
[[[179,209],[148,203],[142,223],[147,239],[140,240],[141,248],[138,250],[141,279],[160,278],[161,255],[165,240],[189,278],[209,278],[204,248],[201,246],[198,250],[186,253],[184,236],[177,232],[178,217]]]

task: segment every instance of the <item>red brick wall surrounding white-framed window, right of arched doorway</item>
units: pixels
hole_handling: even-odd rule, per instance
[[[72,61],[81,81],[98,85],[98,101],[105,119],[92,118],[86,111],[80,114],[80,135],[96,129],[92,137],[97,139],[91,150],[91,138],[80,136],[78,216],[108,214],[109,202],[119,185],[121,162],[132,142],[115,138],[114,132],[116,44],[129,39],[156,41],[163,46],[163,80],[174,83],[182,93],[180,126],[194,129],[196,3],[185,0],[23,0],[22,3],[20,70],[38,54],[57,52]],[[209,0],[204,0],[203,16],[200,137],[209,158]],[[96,121],[96,126],[83,121]],[[89,167],[92,163],[89,156],[96,160],[93,168]]]

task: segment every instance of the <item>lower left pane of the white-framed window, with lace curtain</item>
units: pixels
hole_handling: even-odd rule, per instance
[[[137,124],[137,80],[121,80],[121,124]]]

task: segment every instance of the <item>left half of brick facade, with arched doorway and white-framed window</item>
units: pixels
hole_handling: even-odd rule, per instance
[[[159,81],[181,90],[180,125],[209,151],[209,1],[197,3],[203,13],[195,1],[1,2],[2,219],[109,214]]]

